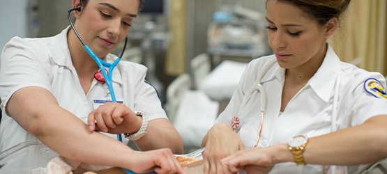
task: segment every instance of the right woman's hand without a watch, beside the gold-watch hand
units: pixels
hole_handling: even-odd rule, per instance
[[[245,150],[245,145],[239,136],[225,123],[214,125],[204,138],[204,143],[206,146],[203,152],[205,174],[223,173],[220,160],[233,155],[238,150]]]

